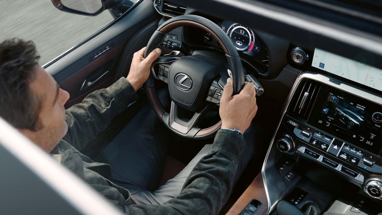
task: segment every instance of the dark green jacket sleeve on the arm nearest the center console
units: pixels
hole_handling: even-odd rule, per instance
[[[234,186],[233,178],[244,139],[231,130],[220,129],[209,154],[186,179],[179,196],[162,205],[120,206],[126,214],[204,215],[219,214]]]

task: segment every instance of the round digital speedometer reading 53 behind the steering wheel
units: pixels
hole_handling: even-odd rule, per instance
[[[256,57],[260,52],[261,45],[253,31],[242,24],[229,23],[223,21],[220,28],[227,33],[236,49],[244,54]]]

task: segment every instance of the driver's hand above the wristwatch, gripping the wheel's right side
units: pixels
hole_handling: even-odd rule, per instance
[[[245,82],[239,94],[233,94],[233,80],[228,78],[220,99],[220,118],[222,128],[236,129],[244,133],[257,112],[256,91],[253,84]]]

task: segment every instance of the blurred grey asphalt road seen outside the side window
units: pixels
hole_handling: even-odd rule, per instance
[[[0,0],[0,41],[32,40],[44,65],[113,21],[109,11],[98,16],[66,13],[50,0]]]

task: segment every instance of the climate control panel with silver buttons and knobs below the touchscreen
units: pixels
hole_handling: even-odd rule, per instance
[[[380,156],[354,147],[351,143],[322,132],[297,118],[285,115],[282,121],[285,129],[276,143],[278,150],[288,154],[297,153],[320,163],[363,184],[364,192],[371,197],[382,199],[382,179],[370,179],[370,176],[382,174]]]

